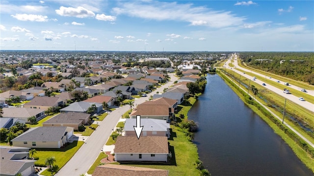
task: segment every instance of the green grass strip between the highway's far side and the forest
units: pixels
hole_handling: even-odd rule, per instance
[[[249,66],[247,66],[245,64],[242,64],[239,59],[238,59],[238,65],[240,65],[241,67],[253,70],[255,72],[264,74],[264,75],[267,73],[268,77],[271,76],[273,79],[279,79],[279,80],[282,80],[283,82],[288,82],[288,83],[293,84],[294,86],[297,86],[297,87],[300,87],[300,88],[314,90],[314,86],[309,85],[308,83],[304,83],[304,82],[301,82],[301,81],[296,81],[296,80],[293,80],[293,79],[290,79],[290,78],[286,78],[286,77],[279,76],[279,75],[276,75],[276,74],[273,74],[273,73],[269,73],[269,72],[266,72],[266,71],[262,71],[262,70],[259,70],[259,69],[256,69],[256,68],[249,67]]]

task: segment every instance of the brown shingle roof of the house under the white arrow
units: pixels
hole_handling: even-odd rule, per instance
[[[166,136],[118,136],[114,153],[118,154],[168,154]]]

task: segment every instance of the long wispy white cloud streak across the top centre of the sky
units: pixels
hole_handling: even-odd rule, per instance
[[[155,0],[127,1],[121,7],[115,7],[112,10],[117,15],[156,21],[189,22],[191,25],[202,24],[214,28],[238,26],[246,19],[245,17],[236,17],[231,11],[214,11],[206,6],[196,6],[192,3]]]

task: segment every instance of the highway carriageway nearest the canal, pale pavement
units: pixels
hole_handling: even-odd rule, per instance
[[[231,60],[228,60],[228,61],[226,62],[226,66],[228,66],[229,63],[231,63]],[[236,61],[235,61],[233,64],[235,65],[235,63],[236,63]],[[236,63],[236,67],[239,67],[239,66],[237,65],[237,63]],[[227,67],[227,68],[228,68],[228,67]],[[230,68],[228,68],[228,69],[230,69]],[[242,69],[242,67],[241,67],[240,69]],[[233,70],[234,70],[236,73],[240,74],[242,78],[245,77],[245,78],[251,79],[251,81],[253,80],[253,77],[252,77],[252,76],[247,75],[247,74],[243,74],[243,72],[241,72],[241,71],[239,71],[239,70],[236,70],[236,69],[233,69]],[[252,73],[258,74],[258,73],[254,72],[254,71],[252,71]],[[259,85],[262,85],[262,84],[264,83],[262,80],[259,80],[259,79],[256,79],[254,82],[255,82],[256,84],[259,84]],[[271,91],[273,91],[273,92],[275,92],[275,93],[277,93],[277,94],[279,94],[279,95],[281,95],[281,96],[283,96],[283,97],[285,97],[285,98],[287,98],[288,100],[290,100],[290,101],[292,101],[292,102],[294,102],[294,103],[296,103],[296,104],[298,104],[298,105],[304,107],[305,109],[314,112],[314,104],[312,104],[312,103],[310,103],[310,102],[308,102],[308,101],[300,101],[300,100],[299,100],[299,97],[294,96],[293,94],[286,94],[286,93],[283,92],[282,89],[276,88],[276,87],[274,87],[274,86],[266,85],[266,86],[264,86],[264,87],[267,88],[267,89],[269,89],[269,90],[271,90]]]

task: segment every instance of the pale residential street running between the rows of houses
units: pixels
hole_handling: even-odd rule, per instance
[[[171,81],[147,94],[147,97],[136,99],[134,105],[145,102],[149,99],[150,95],[153,95],[157,91],[162,92],[164,88],[168,88],[174,81],[178,80],[174,76],[174,73],[168,75]],[[112,129],[127,110],[130,110],[129,105],[120,107],[112,111],[103,121],[98,123],[100,126],[85,140],[85,143],[80,147],[78,152],[61,168],[56,176],[79,176],[80,174],[85,174],[100,154],[108,137],[111,135]]]

